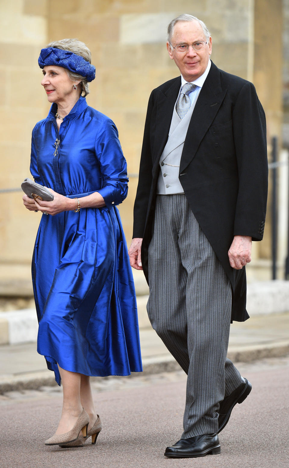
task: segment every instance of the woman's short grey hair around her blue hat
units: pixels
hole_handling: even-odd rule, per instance
[[[91,52],[84,42],[78,39],[62,39],[60,41],[52,41],[46,47],[55,47],[55,49],[62,49],[63,51],[73,52],[76,55],[80,55],[84,60],[91,63]],[[66,73],[71,81],[80,81],[81,84],[81,95],[83,97],[89,94],[89,83],[87,80],[78,73],[73,73],[66,69]]]

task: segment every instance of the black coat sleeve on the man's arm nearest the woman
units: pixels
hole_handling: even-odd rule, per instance
[[[150,120],[154,107],[154,91],[152,91],[148,100],[147,117],[144,128],[143,142],[141,148],[141,162],[139,171],[139,182],[136,191],[135,202],[133,206],[133,238],[143,237],[148,201],[152,184],[152,153],[150,140]]]

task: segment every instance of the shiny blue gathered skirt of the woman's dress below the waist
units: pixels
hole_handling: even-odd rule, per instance
[[[133,275],[116,207],[43,215],[32,281],[39,322],[37,351],[89,376],[141,372]]]

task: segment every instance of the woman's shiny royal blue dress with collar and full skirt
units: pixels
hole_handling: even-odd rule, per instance
[[[56,109],[33,129],[32,176],[80,204],[97,191],[106,206],[41,218],[32,259],[37,351],[59,385],[57,363],[89,376],[141,372],[133,276],[115,206],[128,182],[118,132],[83,97],[58,132]]]

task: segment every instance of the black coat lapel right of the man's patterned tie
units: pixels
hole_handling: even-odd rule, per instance
[[[180,173],[194,158],[200,142],[220,109],[226,93],[227,89],[222,89],[221,86],[220,72],[212,62],[188,127],[180,162]]]

